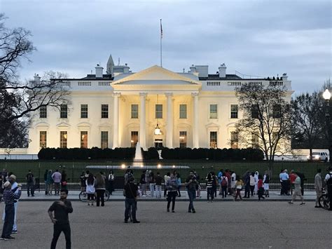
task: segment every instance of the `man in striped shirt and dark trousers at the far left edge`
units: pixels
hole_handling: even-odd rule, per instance
[[[12,189],[11,182],[4,183],[4,227],[2,229],[1,239],[12,240],[14,237],[11,236],[13,233],[14,219],[15,219],[15,200],[21,196],[21,189],[19,186]],[[17,230],[16,230],[17,231]]]

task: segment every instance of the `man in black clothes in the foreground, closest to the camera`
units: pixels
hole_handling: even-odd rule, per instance
[[[48,208],[48,215],[54,224],[53,239],[50,244],[50,249],[55,249],[57,246],[57,239],[61,232],[64,233],[66,239],[66,249],[71,248],[71,231],[69,224],[69,213],[73,213],[71,202],[67,200],[68,189],[61,189],[60,201],[55,201],[50,208]]]

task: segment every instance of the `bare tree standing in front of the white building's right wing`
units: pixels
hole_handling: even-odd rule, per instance
[[[290,153],[291,112],[286,89],[279,86],[235,88],[243,116],[235,125],[237,139],[247,147],[261,149],[268,161],[276,153]]]

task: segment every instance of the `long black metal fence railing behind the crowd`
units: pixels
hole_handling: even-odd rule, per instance
[[[116,176],[114,187],[116,190],[123,188],[123,176],[125,170],[131,168],[134,173],[136,182],[139,182],[139,178],[143,170],[151,170],[154,174],[157,172],[162,175],[166,175],[167,172],[173,173],[174,170],[179,173],[181,182],[183,183],[188,177],[189,171],[194,170],[198,175],[202,184],[202,189],[205,189],[205,177],[207,173],[214,171],[218,174],[220,169],[233,170],[237,175],[241,177],[247,170],[263,174],[265,170],[270,169],[270,189],[279,190],[279,173],[283,169],[295,170],[296,172],[303,173],[305,176],[305,190],[314,190],[314,175],[317,173],[317,169],[321,168],[322,176],[326,173],[328,163],[323,162],[309,162],[309,161],[275,161],[269,163],[263,162],[247,162],[247,161],[210,161],[210,160],[195,160],[195,161],[179,161],[179,160],[150,160],[150,161],[39,161],[39,160],[0,160],[0,170],[5,168],[8,173],[13,173],[17,177],[17,181],[23,183],[23,189],[25,189],[26,175],[28,170],[32,170],[36,178],[36,184],[39,184],[39,189],[43,190],[45,187],[44,174],[46,170],[57,169],[62,173],[65,171],[67,175],[67,183],[69,190],[80,190],[81,173],[89,170],[91,173],[102,172],[105,175],[109,174],[109,170],[113,170]],[[2,171],[2,170],[1,170]],[[184,186],[183,190],[184,190]]]

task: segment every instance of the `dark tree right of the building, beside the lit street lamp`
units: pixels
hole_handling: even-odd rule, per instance
[[[312,149],[324,147],[321,138],[324,137],[324,100],[321,93],[314,92],[301,94],[291,100],[292,109],[292,141],[296,147],[310,150],[312,159]]]

